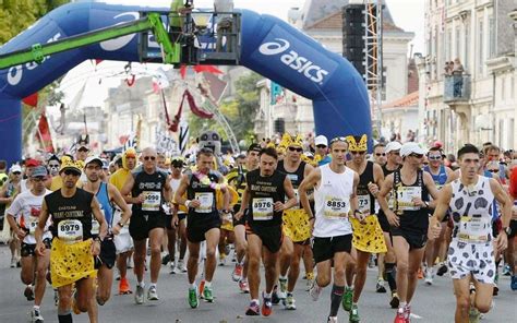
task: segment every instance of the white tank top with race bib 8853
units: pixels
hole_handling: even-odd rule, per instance
[[[350,235],[352,227],[348,219],[350,195],[353,190],[353,170],[345,168],[337,174],[330,166],[320,167],[322,179],[320,187],[314,189],[315,223],[313,236],[329,238]]]

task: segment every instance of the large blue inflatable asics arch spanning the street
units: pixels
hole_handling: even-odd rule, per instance
[[[142,11],[167,8],[74,2],[62,5],[11,39],[0,53],[49,43],[139,19]],[[0,158],[22,156],[22,98],[87,59],[140,61],[139,37],[128,35],[0,71]],[[366,133],[371,137],[368,93],[361,76],[342,57],[286,22],[243,10],[241,64],[313,100],[315,130],[328,139]]]

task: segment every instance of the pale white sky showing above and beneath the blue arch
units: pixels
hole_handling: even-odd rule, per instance
[[[423,52],[423,22],[425,0],[385,1],[389,8],[395,24],[407,32],[413,32],[416,34],[416,37],[411,43],[413,45],[413,52]],[[170,0],[105,0],[101,2],[134,5],[142,5],[142,3],[145,3],[145,5],[148,7],[166,8],[170,5]],[[194,5],[197,8],[212,8],[213,3],[213,0],[194,0]],[[304,0],[235,0],[236,8],[249,9],[257,13],[272,14],[282,20],[287,19],[287,12],[290,8],[303,8],[303,3]],[[86,82],[87,85],[85,95],[79,103],[79,106],[101,106],[104,99],[107,96],[108,87],[115,87],[120,82],[120,79],[117,77],[107,79],[106,75],[109,73],[104,72],[104,74],[101,74],[101,71],[122,71],[124,64],[125,63],[121,62],[103,62],[97,68],[97,71],[89,61],[80,64],[69,72],[64,82],[62,83],[67,84],[67,87],[63,89],[65,93],[64,101],[70,104],[80,92],[83,83]],[[99,82],[101,77],[103,81]],[[95,93],[95,95],[92,95],[93,93]],[[52,111],[50,112],[52,113]]]

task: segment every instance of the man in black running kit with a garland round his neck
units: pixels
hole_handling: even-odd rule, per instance
[[[217,265],[216,248],[219,242],[220,217],[216,208],[216,192],[224,192],[224,213],[229,213],[230,194],[226,184],[221,184],[224,177],[220,172],[213,170],[214,152],[211,148],[201,148],[196,154],[196,170],[183,175],[180,187],[175,193],[175,201],[189,208],[187,216],[187,239],[189,248],[189,260],[187,263],[189,276],[189,304],[195,309],[199,306],[197,287],[195,278],[197,275],[197,261],[200,258],[200,244],[206,240],[206,261],[204,270],[205,284],[203,298],[214,301],[212,279]],[[187,192],[187,199],[183,194]]]

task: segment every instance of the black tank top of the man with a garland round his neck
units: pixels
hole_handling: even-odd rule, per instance
[[[193,172],[189,175],[189,187],[187,188],[187,199],[188,200],[200,200],[202,206],[199,208],[189,207],[189,215],[199,216],[219,216],[219,213],[216,207],[216,190],[213,188],[214,184],[219,182],[221,175],[219,172],[211,170],[206,177],[208,181],[197,178]],[[211,205],[206,203],[211,202]]]

